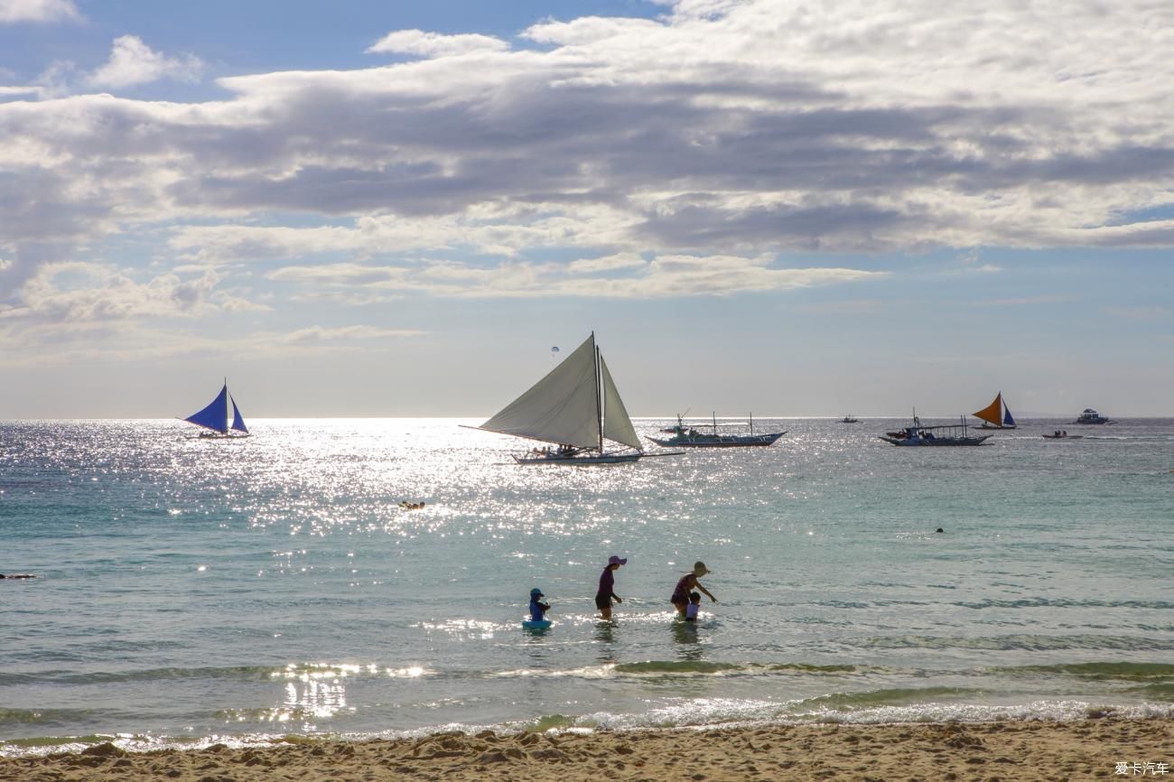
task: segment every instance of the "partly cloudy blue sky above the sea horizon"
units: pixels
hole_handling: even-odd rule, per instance
[[[1165,0],[0,0],[0,419],[1174,414]]]

